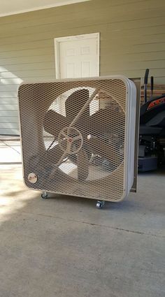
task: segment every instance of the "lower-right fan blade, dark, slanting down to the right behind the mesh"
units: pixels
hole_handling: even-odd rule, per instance
[[[119,152],[117,152],[116,148],[113,144],[107,144],[101,138],[90,138],[89,146],[91,147],[92,152],[94,154],[99,154],[101,157],[108,159],[111,164],[117,166],[121,162],[121,157]]]

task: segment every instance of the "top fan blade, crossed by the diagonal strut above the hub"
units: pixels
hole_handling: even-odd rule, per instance
[[[85,105],[89,99],[88,89],[78,89],[76,92],[73,92],[65,102],[66,108],[66,118],[71,123],[73,119],[78,115],[81,108]],[[86,108],[82,116],[80,117],[79,123],[82,126],[87,126],[89,122],[89,106]]]

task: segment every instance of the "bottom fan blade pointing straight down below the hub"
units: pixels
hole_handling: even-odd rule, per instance
[[[80,150],[78,152],[77,164],[78,164],[78,180],[82,182],[83,180],[86,180],[89,174],[88,158],[85,150]]]

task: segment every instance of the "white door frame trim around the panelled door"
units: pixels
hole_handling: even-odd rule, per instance
[[[58,37],[54,38],[55,42],[55,74],[56,78],[60,78],[60,71],[59,71],[59,43],[65,41],[78,41],[82,39],[96,39],[96,55],[97,55],[97,73],[96,76],[99,76],[99,68],[100,68],[100,34],[98,33],[91,33],[91,34],[82,34],[82,35],[75,35],[75,36],[65,36],[65,37]]]

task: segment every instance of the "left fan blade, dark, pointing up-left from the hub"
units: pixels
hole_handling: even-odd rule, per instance
[[[45,115],[43,122],[43,127],[46,132],[52,134],[57,138],[59,132],[67,126],[66,117],[59,115],[54,110],[48,110],[48,113]]]

